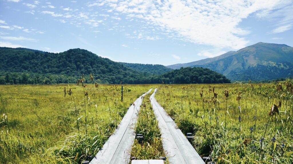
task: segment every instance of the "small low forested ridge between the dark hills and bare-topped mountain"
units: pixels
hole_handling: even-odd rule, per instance
[[[167,68],[160,64],[137,64],[137,63],[123,63],[123,62],[120,62],[120,63],[126,67],[129,67],[141,72],[147,72],[149,74],[163,74],[173,70],[171,68]]]

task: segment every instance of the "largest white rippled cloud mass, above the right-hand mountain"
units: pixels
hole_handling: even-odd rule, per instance
[[[112,6],[109,12],[115,10],[144,21],[149,27],[159,27],[170,38],[240,49],[249,42],[243,36],[250,31],[239,27],[239,23],[252,13],[274,9],[282,1],[285,0],[122,0],[108,6]]]

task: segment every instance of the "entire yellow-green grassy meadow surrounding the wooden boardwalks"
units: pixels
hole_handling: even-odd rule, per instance
[[[91,76],[90,76],[91,77]],[[90,78],[89,77],[89,78]],[[81,163],[150,88],[178,128],[215,163],[293,163],[292,81],[240,84],[1,85],[1,163]],[[154,90],[151,91],[153,93]],[[138,114],[135,159],[168,157],[149,93]],[[168,160],[165,161],[168,163]]]

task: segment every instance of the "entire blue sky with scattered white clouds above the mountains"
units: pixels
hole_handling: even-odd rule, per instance
[[[0,0],[0,46],[192,62],[258,42],[293,46],[291,0]]]

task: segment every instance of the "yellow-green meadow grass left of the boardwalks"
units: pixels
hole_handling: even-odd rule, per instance
[[[95,155],[148,85],[0,86],[0,163],[80,163]],[[64,96],[65,95],[65,96]]]

